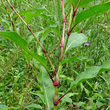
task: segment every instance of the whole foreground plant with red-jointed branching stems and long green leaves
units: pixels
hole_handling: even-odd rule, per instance
[[[65,0],[56,0],[55,2],[58,2],[57,5],[61,6],[61,10],[62,10],[62,33],[60,33],[61,37],[59,38],[59,46],[60,46],[60,57],[59,57],[59,66],[58,68],[56,68],[54,66],[54,64],[52,63],[45,47],[43,46],[43,44],[39,41],[39,39],[36,37],[36,35],[34,34],[33,30],[30,28],[30,26],[27,24],[27,22],[20,16],[20,14],[16,11],[16,9],[13,7],[13,5],[11,4],[11,2],[9,0],[6,0],[7,3],[9,4],[10,8],[13,10],[13,12],[19,17],[19,19],[25,24],[25,26],[27,27],[27,29],[30,31],[30,33],[33,35],[33,37],[35,38],[36,42],[38,43],[38,45],[41,47],[42,52],[44,53],[46,60],[49,62],[50,67],[48,67],[45,63],[45,59],[37,54],[34,54],[33,52],[30,52],[29,49],[27,48],[28,43],[26,42],[26,40],[22,39],[17,33],[16,33],[16,27],[14,25],[13,19],[10,16],[10,13],[8,12],[8,9],[4,3],[3,0],[1,0],[5,10],[10,18],[11,21],[11,25],[13,27],[13,31],[15,32],[0,32],[0,34],[2,34],[2,36],[5,36],[9,39],[11,39],[12,41],[14,41],[17,45],[19,45],[23,51],[26,52],[26,54],[29,57],[33,57],[35,58],[38,62],[40,62],[40,64],[43,66],[43,68],[45,70],[43,70],[43,74],[42,77],[45,77],[45,79],[47,78],[46,74],[44,74],[45,72],[47,72],[49,78],[51,81],[49,81],[49,83],[53,84],[54,87],[54,95],[52,95],[52,100],[53,100],[53,106],[54,106],[54,110],[57,110],[58,104],[61,102],[61,99],[71,91],[72,88],[74,88],[75,86],[77,86],[79,83],[81,83],[84,80],[90,79],[90,78],[94,78],[96,77],[96,75],[102,70],[102,68],[104,69],[110,69],[110,67],[103,65],[103,66],[95,66],[95,67],[90,67],[87,71],[82,72],[80,74],[77,74],[76,80],[71,82],[70,88],[68,88],[67,92],[65,92],[65,94],[63,94],[62,96],[59,95],[59,86],[61,86],[60,84],[60,74],[63,71],[63,65],[65,63],[69,63],[70,61],[80,61],[80,59],[78,58],[70,58],[65,60],[65,55],[66,52],[69,51],[72,48],[75,48],[77,46],[81,46],[83,43],[85,43],[86,46],[90,46],[91,44],[88,41],[86,35],[83,34],[82,27],[81,27],[81,31],[78,30],[78,32],[74,32],[74,28],[81,23],[82,21],[88,19],[89,17],[92,16],[96,16],[101,12],[107,11],[110,9],[110,2],[107,3],[103,3],[103,4],[98,4],[98,5],[94,5],[92,7],[90,7],[89,9],[86,9],[85,6],[87,6],[87,4],[92,3],[93,0],[67,0],[68,4],[65,4]],[[67,3],[67,2],[66,2]],[[69,5],[69,9],[68,9],[68,14],[67,14],[67,10],[65,11],[65,5]],[[58,7],[59,7],[58,6]],[[80,9],[80,10],[79,10]],[[102,10],[103,9],[103,10]],[[66,15],[67,14],[67,15]],[[105,24],[104,24],[105,25]],[[3,28],[0,28],[0,30],[3,30]],[[66,36],[66,37],[65,37]],[[13,37],[15,39],[13,39]],[[28,59],[28,58],[27,58]],[[110,62],[106,62],[108,64],[110,64]],[[33,70],[34,68],[32,67],[32,65],[30,65],[30,68]],[[75,69],[77,70],[79,68],[79,65],[75,67]],[[53,74],[50,73],[50,70],[52,69]],[[68,68],[67,68],[68,69]],[[92,71],[94,70],[94,71]],[[94,74],[96,73],[96,74]],[[48,79],[48,78],[47,78]],[[42,80],[42,84],[44,85],[45,90],[47,90],[47,88],[50,90],[49,88],[49,83]],[[51,90],[49,91],[50,93],[47,93],[47,97],[49,96],[49,94],[51,94]],[[45,92],[46,93],[46,92]],[[50,96],[49,96],[50,97]],[[49,99],[47,98],[47,108],[48,110],[51,110],[51,105],[49,104]],[[50,102],[51,103],[51,102]]]

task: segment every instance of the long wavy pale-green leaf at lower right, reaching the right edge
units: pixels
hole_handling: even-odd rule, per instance
[[[72,82],[70,89],[74,88],[81,82],[96,77],[102,71],[110,70],[110,61],[105,61],[101,66],[90,67],[87,71],[82,72],[78,75],[75,81]]]

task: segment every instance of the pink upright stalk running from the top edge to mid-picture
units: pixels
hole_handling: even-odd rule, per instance
[[[63,59],[65,23],[66,23],[65,12],[64,12],[64,1],[63,0],[62,0],[62,13],[63,13],[63,33],[62,33],[62,41],[61,41],[61,44],[60,44],[60,47],[61,47],[61,58],[60,58],[60,61]]]

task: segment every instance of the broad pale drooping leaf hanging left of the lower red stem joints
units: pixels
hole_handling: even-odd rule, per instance
[[[53,108],[54,86],[45,68],[41,67],[41,71],[42,73],[39,74],[41,75],[40,83],[43,85],[46,106],[48,110],[51,110]]]

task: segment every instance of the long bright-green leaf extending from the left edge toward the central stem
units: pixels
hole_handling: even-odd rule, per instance
[[[37,54],[35,54],[34,52],[30,52],[28,49],[28,43],[26,42],[26,40],[24,40],[22,37],[20,37],[16,32],[0,32],[0,36],[4,37],[4,38],[8,38],[10,40],[12,40],[13,42],[15,42],[18,46],[21,47],[21,49],[23,49],[28,56],[32,56],[33,58],[35,58],[37,61],[39,61],[41,63],[41,65],[43,65],[46,69],[46,60],[44,59],[44,57],[39,56]]]

